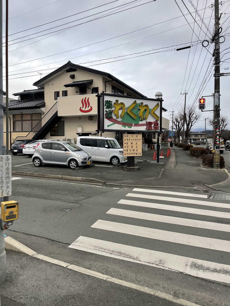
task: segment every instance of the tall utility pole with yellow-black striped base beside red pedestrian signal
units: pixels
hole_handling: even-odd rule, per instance
[[[215,0],[215,32],[214,32],[214,114],[213,130],[215,153],[213,154],[213,168],[220,168],[220,18],[219,18],[219,0]]]

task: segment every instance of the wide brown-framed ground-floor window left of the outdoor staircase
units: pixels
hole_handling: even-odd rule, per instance
[[[41,114],[13,115],[13,132],[30,132],[41,120]]]

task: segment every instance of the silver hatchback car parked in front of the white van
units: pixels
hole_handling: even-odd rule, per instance
[[[92,157],[76,144],[54,140],[41,142],[34,150],[32,162],[36,167],[42,164],[55,164],[75,169],[79,166],[89,166],[92,163]]]

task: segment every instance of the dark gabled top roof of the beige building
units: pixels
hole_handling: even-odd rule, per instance
[[[39,84],[42,84],[49,77],[54,76],[58,72],[64,71],[67,67],[71,67],[71,68],[75,68],[75,69],[80,69],[80,70],[84,70],[84,71],[88,71],[88,72],[91,72],[91,73],[99,74],[101,76],[108,77],[109,79],[112,79],[113,81],[121,84],[122,86],[128,88],[129,90],[136,92],[141,97],[146,98],[145,95],[143,95],[142,93],[140,93],[136,89],[132,88],[131,86],[125,84],[124,82],[122,82],[121,80],[117,79],[115,76],[113,76],[112,74],[110,74],[108,72],[100,71],[100,70],[93,69],[93,68],[84,67],[84,66],[81,66],[81,65],[76,65],[76,64],[72,63],[71,61],[68,61],[66,64],[62,65],[58,69],[52,71],[51,73],[47,74],[46,76],[44,76],[40,80],[34,82],[33,85],[34,86],[39,86]]]

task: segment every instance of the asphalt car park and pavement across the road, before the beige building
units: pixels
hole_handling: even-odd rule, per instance
[[[228,178],[224,170],[203,169],[201,159],[194,159],[187,151],[173,147],[171,156],[166,157],[167,148],[163,149],[164,158],[159,163],[153,160],[154,151],[143,152],[136,159],[138,171],[124,171],[121,166],[95,162],[94,166],[71,170],[66,166],[43,165],[35,167],[24,156],[13,156],[12,175],[27,175],[45,179],[63,179],[84,181],[98,184],[148,186],[148,187],[194,187],[194,184],[212,185]]]

